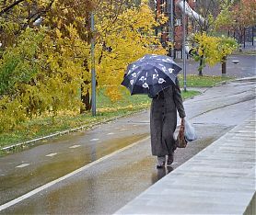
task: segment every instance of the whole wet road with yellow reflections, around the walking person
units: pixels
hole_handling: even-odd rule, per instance
[[[199,138],[176,152],[172,167],[249,117],[253,108],[255,80],[220,85],[185,101]],[[120,209],[171,171],[157,171],[148,136],[145,111],[0,158],[0,214],[109,214]],[[53,180],[54,185],[47,184]],[[16,204],[7,205],[12,199]]]

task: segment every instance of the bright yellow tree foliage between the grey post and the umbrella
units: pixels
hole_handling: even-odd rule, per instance
[[[106,93],[111,99],[121,97],[120,84],[129,62],[146,53],[166,53],[157,39],[154,27],[158,25],[154,13],[142,1],[139,7],[122,11],[114,22],[109,18],[98,19],[97,72],[99,87],[108,85]]]

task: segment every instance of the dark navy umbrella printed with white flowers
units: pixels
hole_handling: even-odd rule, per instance
[[[175,85],[180,70],[180,66],[168,56],[146,54],[128,65],[121,85],[127,87],[131,95],[154,97],[169,85]]]

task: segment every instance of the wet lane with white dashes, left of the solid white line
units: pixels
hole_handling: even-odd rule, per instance
[[[0,204],[141,140],[148,132],[143,123],[114,121],[2,157]]]

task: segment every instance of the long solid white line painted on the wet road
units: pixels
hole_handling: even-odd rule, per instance
[[[64,175],[64,176],[62,176],[62,177],[60,177],[60,178],[57,178],[57,179],[55,179],[55,180],[53,180],[53,181],[51,181],[51,182],[49,182],[49,183],[47,183],[47,184],[45,184],[45,185],[43,185],[43,186],[41,186],[41,187],[38,187],[38,188],[36,188],[36,189],[30,191],[29,193],[26,193],[26,194],[22,195],[21,197],[15,198],[15,199],[13,199],[13,200],[7,202],[7,203],[4,204],[4,205],[0,205],[0,211],[3,210],[3,209],[7,209],[7,208],[9,208],[9,207],[11,207],[11,206],[17,204],[18,202],[20,202],[20,201],[22,201],[22,200],[24,200],[24,199],[26,199],[26,198],[30,198],[31,196],[33,196],[33,195],[35,195],[35,194],[41,192],[42,190],[44,190],[44,189],[46,189],[46,188],[48,188],[48,187],[52,187],[53,185],[55,185],[55,184],[57,184],[57,183],[59,183],[59,182],[61,182],[61,181],[64,181],[66,178],[71,177],[71,176],[73,176],[73,175],[76,175],[77,173],[80,173],[80,172],[82,172],[82,171],[88,169],[90,166],[95,165],[95,164],[99,164],[99,162],[102,162],[102,161],[104,161],[104,160],[110,158],[111,156],[113,156],[113,155],[115,155],[115,154],[117,154],[117,153],[122,153],[122,151],[125,151],[125,150],[127,150],[127,149],[130,149],[130,148],[134,147],[134,145],[136,145],[136,144],[138,144],[138,143],[140,143],[140,142],[142,142],[142,141],[146,141],[146,140],[148,140],[148,139],[149,139],[149,136],[146,137],[145,139],[141,140],[141,141],[136,141],[136,142],[134,142],[133,144],[128,145],[128,146],[126,146],[126,147],[124,147],[124,148],[122,148],[122,149],[120,149],[120,150],[118,150],[118,151],[116,151],[116,152],[114,152],[114,153],[110,153],[110,154],[108,154],[108,155],[106,155],[106,156],[104,156],[104,157],[101,157],[101,158],[99,158],[99,160],[97,160],[97,161],[95,161],[95,162],[92,162],[92,163],[90,163],[90,164],[84,165],[84,166],[82,166],[81,168],[76,169],[76,170],[73,171],[72,173],[67,174],[67,175]]]

